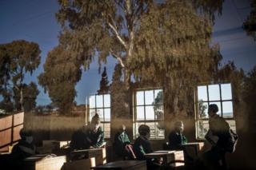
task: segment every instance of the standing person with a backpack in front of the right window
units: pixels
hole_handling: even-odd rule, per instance
[[[203,162],[208,169],[226,169],[225,154],[229,152],[232,139],[230,125],[217,113],[218,105],[209,105],[209,131],[205,137],[212,144],[212,148],[203,154]]]

